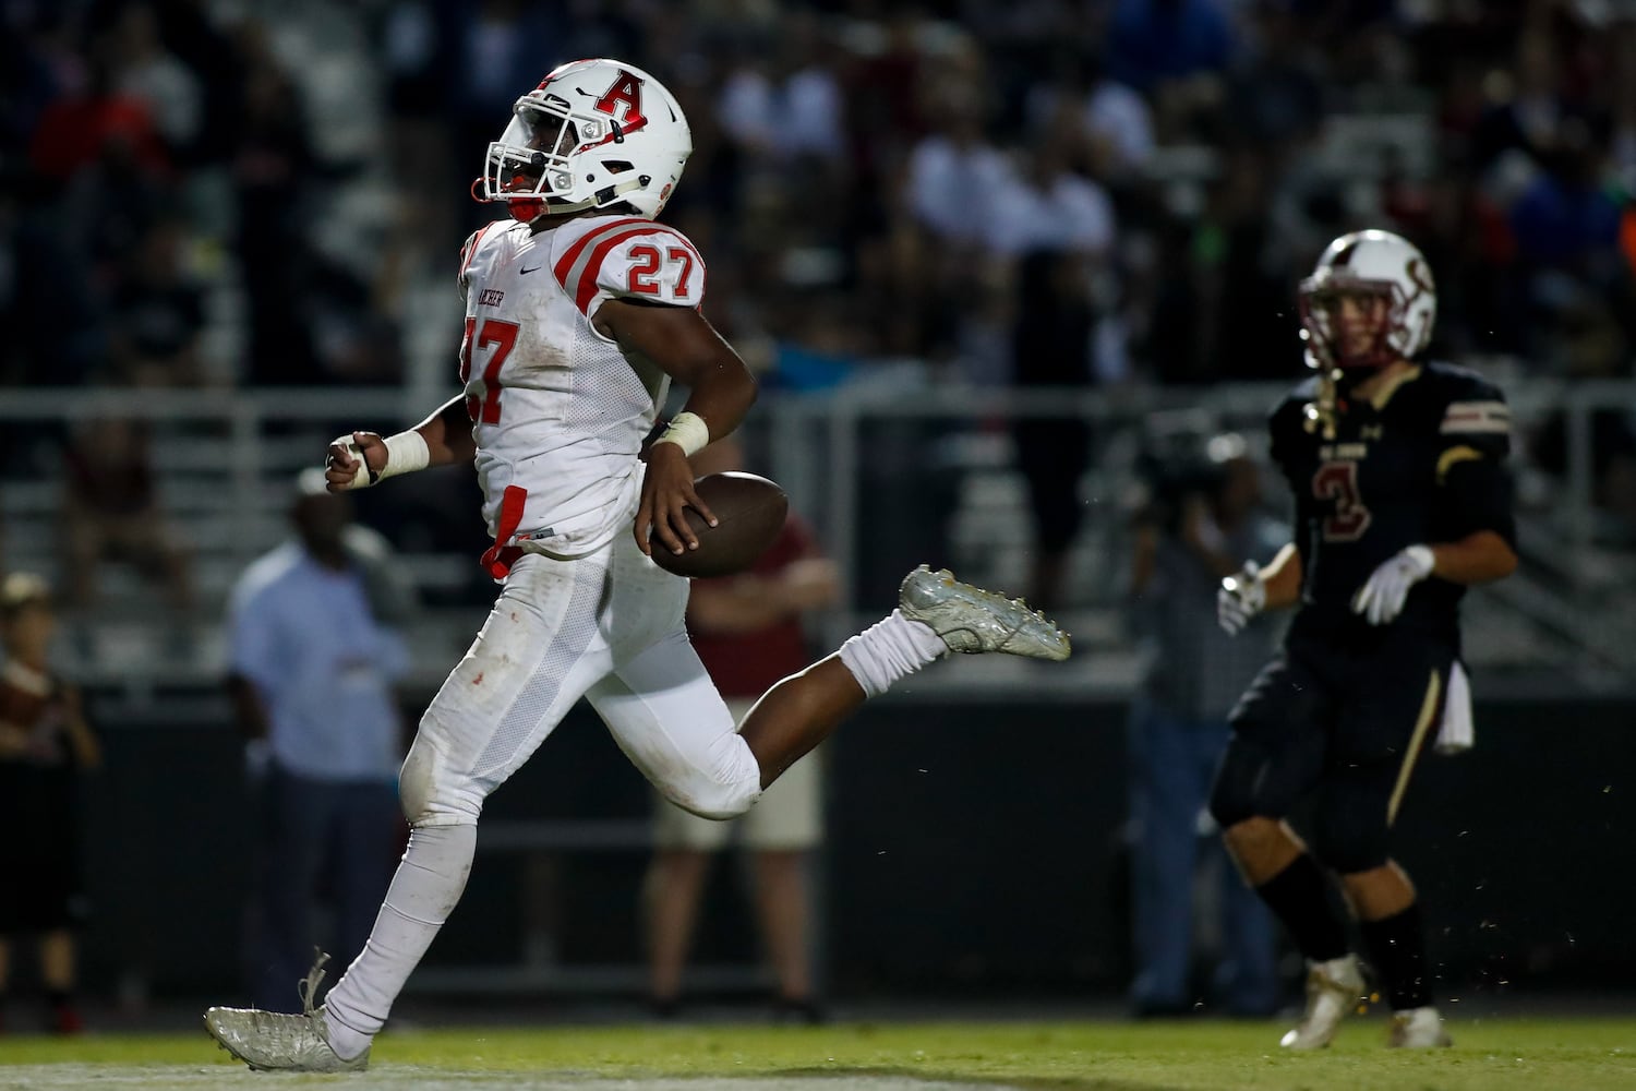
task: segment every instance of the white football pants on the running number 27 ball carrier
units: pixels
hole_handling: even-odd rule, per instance
[[[687,581],[628,535],[573,561],[524,554],[420,720],[399,788],[409,823],[474,823],[581,697],[666,798],[741,815],[761,769],[687,641],[685,608]]]

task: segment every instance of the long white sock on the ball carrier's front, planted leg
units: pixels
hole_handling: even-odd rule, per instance
[[[417,826],[398,864],[370,942],[324,999],[329,1045],[353,1058],[370,1047],[425,949],[466,890],[476,826]]]

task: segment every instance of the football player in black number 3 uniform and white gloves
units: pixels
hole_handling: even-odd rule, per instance
[[[1296,494],[1296,535],[1271,563],[1222,581],[1237,631],[1296,607],[1283,649],[1232,715],[1211,797],[1229,851],[1309,965],[1288,1048],[1319,1048],[1364,993],[1332,913],[1338,875],[1392,1006],[1391,1045],[1448,1045],[1432,1003],[1420,906],[1387,833],[1435,728],[1469,731],[1459,666],[1467,586],[1517,568],[1510,411],[1471,371],[1417,363],[1436,319],[1432,270],[1384,231],[1342,236],[1301,285],[1317,375],[1278,406],[1273,460]],[[1453,697],[1451,697],[1453,692]],[[1312,795],[1314,846],[1284,823]]]

